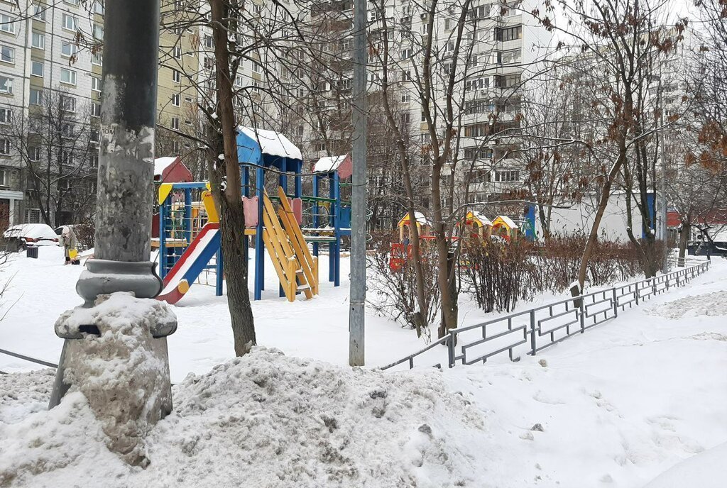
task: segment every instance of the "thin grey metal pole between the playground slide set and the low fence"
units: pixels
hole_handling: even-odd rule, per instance
[[[366,306],[366,0],[353,2],[353,186],[348,364],[364,365]]]

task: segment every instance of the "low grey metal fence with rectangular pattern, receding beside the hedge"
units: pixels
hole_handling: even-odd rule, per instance
[[[657,277],[585,293],[581,296],[539,305],[521,312],[452,329],[446,336],[430,343],[421,351],[409,354],[396,362],[381,367],[387,370],[406,365],[454,367],[457,363],[473,365],[485,363],[494,356],[504,355],[518,361],[523,354],[535,355],[576,334],[612,320],[632,306],[638,306],[672,287],[685,285],[709,269],[709,261],[699,261]],[[442,356],[446,346],[447,356]]]

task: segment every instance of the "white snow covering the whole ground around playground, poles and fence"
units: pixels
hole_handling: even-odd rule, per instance
[[[4,301],[17,303],[0,322],[0,348],[55,361],[52,323],[79,303],[80,270],[42,254],[20,261],[2,272],[16,273]],[[322,284],[310,303],[268,291],[254,304],[258,341],[286,356],[261,349],[229,360],[224,297],[211,289],[193,287],[174,307],[172,374],[196,375],[174,387],[146,470],[105,449],[79,394],[44,411],[51,373],[0,375],[0,487],[689,488],[727,479],[727,261],[537,357],[443,372],[342,367],[348,288]],[[371,365],[423,345],[367,320]],[[21,363],[0,356],[0,370]]]

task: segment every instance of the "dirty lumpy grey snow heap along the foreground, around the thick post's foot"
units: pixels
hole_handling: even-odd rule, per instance
[[[478,487],[484,420],[435,370],[387,374],[256,348],[174,387],[146,469],[104,447],[80,394],[3,425],[0,486]],[[71,482],[72,481],[72,482]]]

